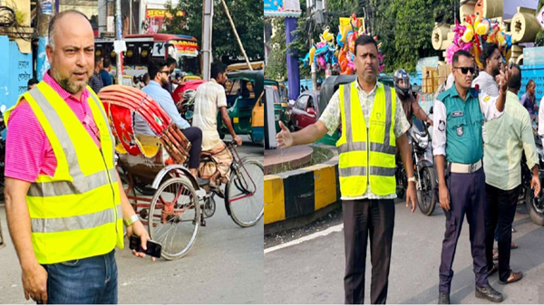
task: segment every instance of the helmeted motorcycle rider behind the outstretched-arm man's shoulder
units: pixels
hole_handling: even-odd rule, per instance
[[[406,115],[406,119],[408,119],[410,126],[413,124],[412,119],[414,115],[417,119],[421,119],[432,126],[432,119],[429,118],[427,113],[425,113],[419,105],[418,96],[414,96],[412,92],[410,75],[403,69],[394,71],[393,82],[396,94],[403,103],[404,114]]]

